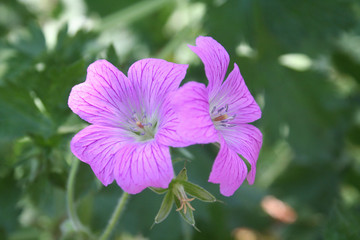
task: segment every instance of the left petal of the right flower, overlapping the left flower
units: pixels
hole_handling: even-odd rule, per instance
[[[178,117],[178,134],[193,143],[217,141],[217,131],[209,113],[208,92],[204,84],[189,82],[173,96],[172,103]]]

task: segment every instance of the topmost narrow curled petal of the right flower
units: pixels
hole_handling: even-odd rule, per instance
[[[229,66],[229,54],[220,43],[212,37],[200,36],[196,39],[196,46],[190,46],[205,66],[205,74],[209,80],[209,99],[220,89]]]

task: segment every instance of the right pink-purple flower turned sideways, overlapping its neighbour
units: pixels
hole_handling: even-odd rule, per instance
[[[254,183],[262,134],[247,123],[259,119],[261,110],[236,64],[223,81],[229,65],[223,46],[211,37],[200,36],[196,46],[189,47],[203,61],[209,84],[189,82],[178,90],[173,102],[179,133],[196,143],[220,143],[209,182],[219,183],[220,192],[231,196],[246,177]],[[250,163],[249,173],[239,154]]]

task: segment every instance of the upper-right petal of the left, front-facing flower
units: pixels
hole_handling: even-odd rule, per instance
[[[137,61],[130,67],[128,77],[147,113],[156,112],[165,96],[179,87],[187,67],[154,58]]]

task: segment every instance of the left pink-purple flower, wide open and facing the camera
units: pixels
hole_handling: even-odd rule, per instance
[[[178,119],[170,105],[187,67],[144,59],[126,77],[98,60],[86,81],[73,87],[69,107],[92,125],[74,136],[71,151],[105,186],[115,179],[131,194],[168,187],[173,178],[168,146],[188,145],[176,134]]]

